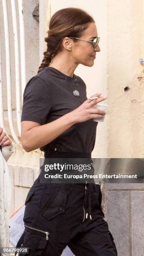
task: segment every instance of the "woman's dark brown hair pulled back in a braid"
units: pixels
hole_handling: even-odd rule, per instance
[[[63,38],[82,36],[90,22],[94,22],[94,19],[82,9],[65,8],[58,10],[50,19],[48,36],[45,37],[47,51],[44,51],[44,59],[38,72],[50,65],[52,57],[61,49]]]

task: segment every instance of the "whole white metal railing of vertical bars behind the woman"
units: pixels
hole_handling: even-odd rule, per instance
[[[22,0],[18,0],[18,15],[16,13],[16,0],[11,0],[11,13],[12,13],[12,26],[14,36],[14,51],[15,51],[15,91],[16,91],[16,120],[17,129],[20,135],[20,120],[21,109],[20,100],[23,97],[25,90],[25,36],[24,36],[24,20],[23,20],[23,7]],[[12,120],[12,95],[11,95],[11,76],[10,76],[10,39],[9,39],[9,26],[8,26],[8,13],[7,13],[7,0],[2,0],[4,31],[5,31],[5,65],[6,65],[6,86],[7,86],[7,113],[8,122],[10,126],[11,135],[16,144],[20,145],[18,136],[16,135],[13,120]],[[18,28],[17,17],[19,16],[20,24],[20,51],[18,45]],[[12,43],[11,43],[12,45]],[[19,54],[20,52],[20,54]],[[20,56],[19,56],[20,55]],[[20,58],[20,63],[19,63]],[[0,125],[4,128],[4,115],[3,115],[3,98],[2,98],[2,63],[1,63],[1,44],[0,44]],[[21,88],[22,95],[20,95],[20,68],[21,67]]]

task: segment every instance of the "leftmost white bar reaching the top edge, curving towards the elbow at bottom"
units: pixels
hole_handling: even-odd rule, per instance
[[[15,143],[20,144],[16,133],[14,131],[12,123],[12,98],[11,98],[11,78],[10,78],[10,40],[9,40],[9,29],[8,29],[8,17],[7,17],[7,2],[2,0],[3,5],[3,16],[4,16],[4,28],[5,28],[5,56],[6,56],[6,74],[7,74],[7,110],[8,120],[10,125],[10,131]]]

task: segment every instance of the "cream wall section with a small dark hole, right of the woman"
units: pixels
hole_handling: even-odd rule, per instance
[[[143,3],[107,2],[107,157],[144,157]]]

